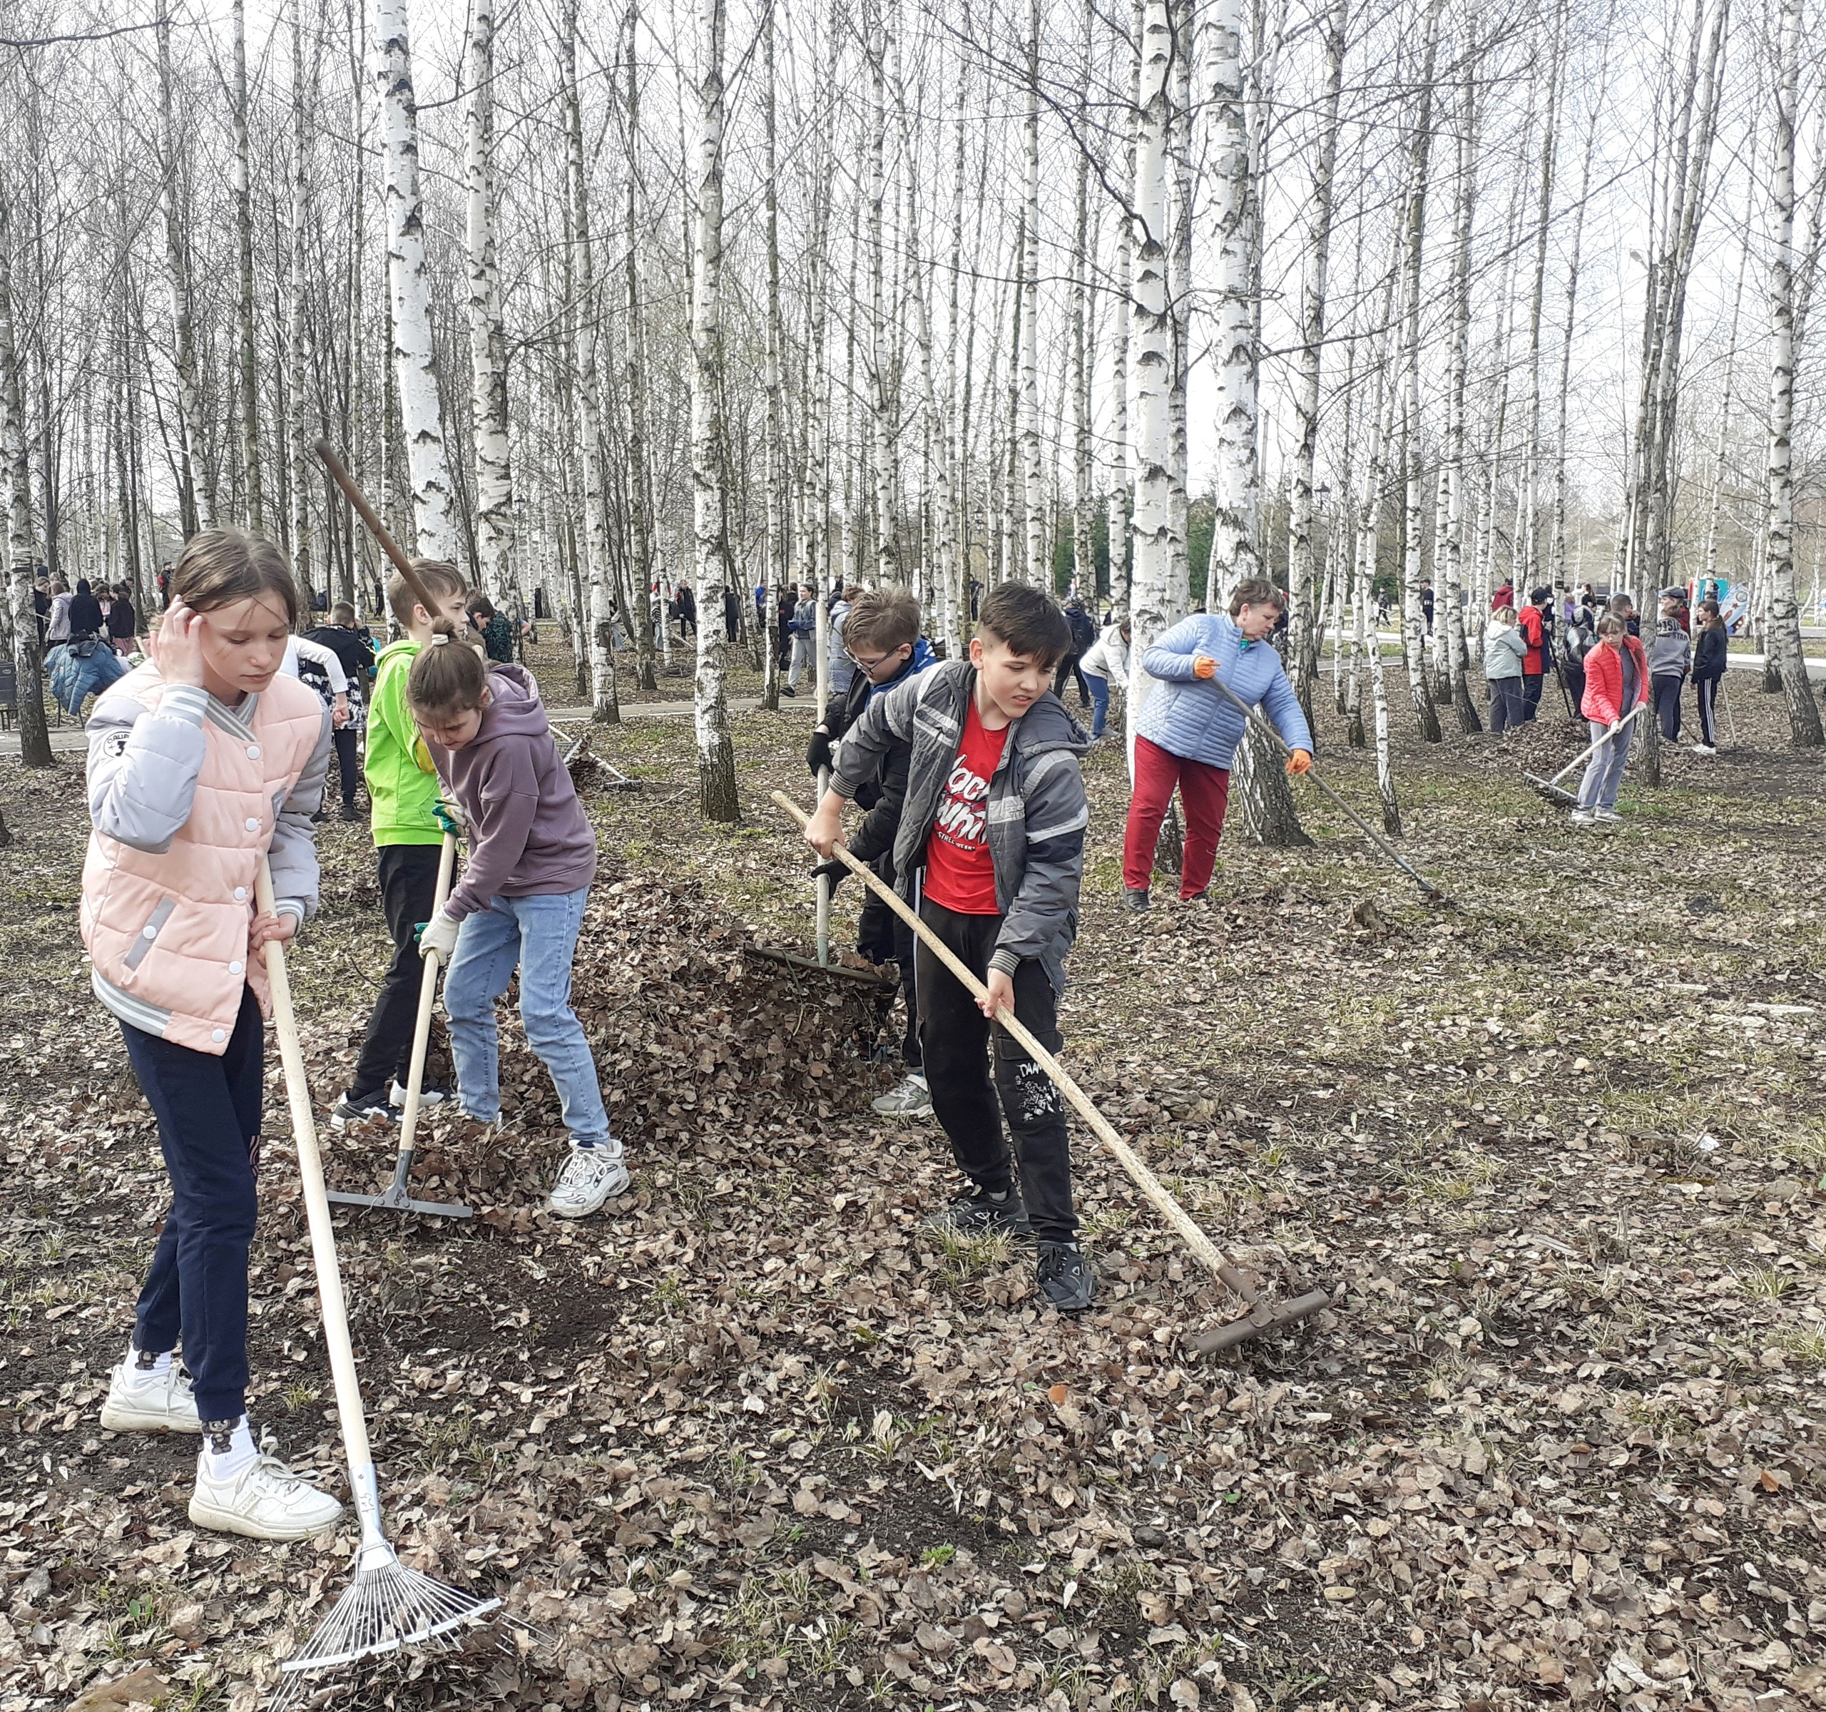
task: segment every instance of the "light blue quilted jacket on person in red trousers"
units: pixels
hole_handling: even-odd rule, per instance
[[[1183,619],[1141,655],[1141,668],[1160,679],[1138,723],[1149,743],[1207,767],[1227,768],[1236,759],[1236,745],[1244,739],[1242,710],[1192,675],[1200,653],[1218,663],[1218,677],[1231,690],[1275,721],[1289,748],[1311,750],[1313,734],[1280,655],[1267,642],[1244,642],[1242,632],[1222,613]]]

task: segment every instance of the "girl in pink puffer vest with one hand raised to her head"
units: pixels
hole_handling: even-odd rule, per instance
[[[121,1020],[172,1177],[102,1425],[201,1433],[190,1520],[270,1540],[303,1539],[341,1511],[261,1455],[247,1422],[261,947],[290,940],[316,903],[310,816],[331,754],[329,710],[279,672],[296,622],[298,586],[272,542],[234,529],[190,538],[152,661],[89,717],[82,867],[95,997]],[[254,905],[261,856],[274,914]]]

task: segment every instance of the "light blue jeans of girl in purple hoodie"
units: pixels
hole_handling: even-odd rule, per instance
[[[603,1088],[582,1024],[570,1006],[572,956],[590,887],[540,898],[489,898],[488,909],[464,916],[444,976],[444,1009],[456,1060],[456,1099],[484,1122],[500,1117],[500,1051],[495,1000],[520,971],[520,1020],[526,1042],[551,1071],[572,1146],[610,1148]]]

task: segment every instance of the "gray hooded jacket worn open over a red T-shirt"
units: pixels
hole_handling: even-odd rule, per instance
[[[897,887],[913,896],[913,874],[926,865],[926,841],[939,816],[944,781],[964,741],[977,672],[970,661],[944,661],[904,677],[871,697],[836,748],[831,788],[853,798],[897,739],[911,743],[906,807],[895,834]],[[1077,938],[1077,885],[1085,874],[1090,799],[1077,757],[1090,748],[1083,726],[1052,694],[1041,695],[1008,734],[990,779],[990,856],[995,907],[1002,914],[990,966],[1013,975],[1023,958],[1065,989],[1065,955]]]

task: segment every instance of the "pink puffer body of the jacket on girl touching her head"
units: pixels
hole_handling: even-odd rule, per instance
[[[164,684],[146,664],[110,694],[128,694],[150,714]],[[82,944],[97,984],[110,987],[104,1002],[135,1028],[219,1055],[243,987],[270,1015],[267,969],[247,955],[254,876],[321,732],[323,703],[283,673],[259,695],[252,723],[212,701],[190,819],[170,849],[135,851],[89,832]]]

